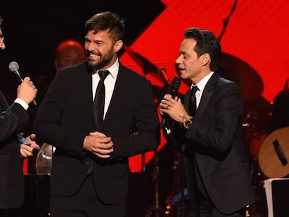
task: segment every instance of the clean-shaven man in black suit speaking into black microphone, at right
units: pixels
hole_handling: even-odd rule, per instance
[[[183,146],[195,216],[245,216],[246,205],[255,201],[242,143],[242,96],[237,84],[216,73],[220,55],[211,31],[186,29],[175,63],[191,89],[184,105],[167,94],[159,106],[178,122],[166,137]]]

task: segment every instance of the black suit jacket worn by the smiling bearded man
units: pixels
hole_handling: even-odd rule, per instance
[[[160,143],[159,121],[149,80],[119,66],[112,99],[101,132],[111,136],[114,153],[100,159],[82,149],[84,137],[96,130],[91,68],[87,63],[61,69],[38,108],[34,130],[56,151],[51,194],[73,195],[94,162],[94,182],[103,202],[124,204],[128,157],[151,151]],[[138,132],[138,135],[131,136]]]

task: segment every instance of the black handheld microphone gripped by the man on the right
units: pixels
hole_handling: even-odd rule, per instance
[[[177,96],[177,91],[179,90],[180,86],[181,86],[181,77],[175,76],[174,79],[172,80],[172,84],[170,86],[168,94],[170,94],[172,98],[175,98],[175,96]],[[161,125],[163,126],[167,134],[171,133],[171,128],[173,124],[175,124],[174,119],[172,119],[168,114],[164,113]]]

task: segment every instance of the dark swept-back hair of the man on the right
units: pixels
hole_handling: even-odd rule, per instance
[[[209,68],[213,71],[218,70],[218,61],[221,56],[222,48],[212,31],[197,27],[188,28],[184,31],[184,38],[195,39],[197,43],[194,50],[198,57],[200,57],[202,54],[208,53],[211,57]]]

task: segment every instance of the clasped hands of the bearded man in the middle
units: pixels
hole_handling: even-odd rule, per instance
[[[112,137],[108,137],[98,131],[89,133],[84,138],[83,149],[99,158],[110,158],[110,154],[114,151]]]

